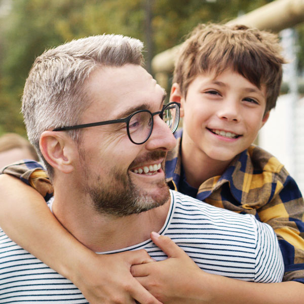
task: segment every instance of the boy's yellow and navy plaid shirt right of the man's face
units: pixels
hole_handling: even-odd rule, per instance
[[[182,130],[166,160],[169,186],[178,191],[181,178]],[[251,145],[221,176],[203,182],[196,198],[238,213],[250,213],[271,225],[284,258],[283,281],[304,283],[304,201],[294,179],[267,151]]]

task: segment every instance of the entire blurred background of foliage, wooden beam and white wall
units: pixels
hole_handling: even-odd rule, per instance
[[[0,136],[26,137],[20,98],[45,49],[94,34],[136,37],[145,45],[146,69],[169,93],[176,46],[206,22],[280,32],[290,63],[256,143],[286,165],[304,192],[304,0],[0,0]]]

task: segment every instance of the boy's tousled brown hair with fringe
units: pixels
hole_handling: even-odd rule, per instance
[[[173,83],[183,96],[201,73],[232,68],[256,87],[266,86],[265,112],[274,108],[282,82],[282,48],[278,35],[245,25],[200,24],[188,35],[175,61]]]

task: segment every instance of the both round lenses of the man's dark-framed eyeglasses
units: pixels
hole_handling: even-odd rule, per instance
[[[163,110],[162,119],[174,132],[179,122],[179,107],[177,104],[170,104]],[[130,117],[128,122],[128,133],[130,139],[137,144],[145,142],[153,128],[153,116],[147,110],[142,110]]]

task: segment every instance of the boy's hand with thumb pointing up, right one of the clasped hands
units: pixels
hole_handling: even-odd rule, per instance
[[[168,258],[163,261],[133,265],[132,275],[151,294],[165,304],[208,303],[211,299],[204,294],[202,281],[205,276],[197,264],[170,238],[151,233],[151,239]]]

